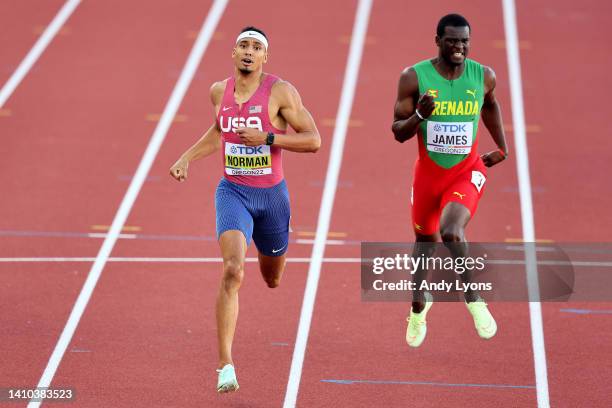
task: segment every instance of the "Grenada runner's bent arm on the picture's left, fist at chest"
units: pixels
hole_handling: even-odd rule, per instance
[[[433,112],[434,101],[430,95],[424,94],[419,97],[419,80],[414,68],[406,68],[400,76],[397,89],[397,100],[395,101],[395,112],[391,130],[395,140],[404,143],[411,139],[423,121],[417,113],[427,119]]]

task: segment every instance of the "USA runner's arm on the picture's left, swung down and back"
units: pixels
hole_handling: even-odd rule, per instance
[[[215,107],[215,112],[218,112],[221,99],[223,98],[223,90],[225,85],[223,82],[215,82],[210,88],[210,99]],[[170,167],[170,175],[178,181],[184,181],[187,178],[187,168],[189,163],[210,156],[221,148],[221,129],[219,123],[215,123],[208,128],[204,135],[194,143],[179,159]]]

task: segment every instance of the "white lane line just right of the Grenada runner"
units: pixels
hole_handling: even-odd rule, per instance
[[[516,24],[516,6],[514,0],[502,0],[504,11],[504,28],[506,34],[506,56],[510,75],[510,95],[512,99],[512,124],[516,145],[516,167],[521,198],[521,219],[523,222],[523,241],[535,242],[533,221],[533,202],[531,198],[531,179],[529,176],[529,155],[527,136],[525,134],[525,111],[523,107],[523,85],[521,79],[521,62],[518,47],[518,29]],[[527,289],[530,299],[539,299],[537,256],[534,245],[525,245],[525,262],[527,269]],[[550,407],[548,394],[548,374],[546,368],[546,349],[544,346],[544,327],[542,325],[542,305],[540,302],[529,302],[531,321],[531,343],[536,375],[536,390],[539,408]]]

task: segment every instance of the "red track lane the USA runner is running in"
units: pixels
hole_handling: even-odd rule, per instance
[[[139,226],[143,232],[153,234],[214,235],[213,197],[217,180],[221,177],[219,159],[209,158],[194,163],[190,168],[189,181],[186,184],[178,184],[171,180],[167,176],[167,171],[176,157],[192,144],[202,130],[209,125],[212,113],[208,100],[208,88],[212,81],[225,78],[232,72],[229,55],[235,32],[243,26],[255,23],[261,26],[270,37],[270,63],[266,66],[266,71],[280,75],[297,87],[305,105],[317,120],[324,140],[324,145],[317,155],[287,152],[284,159],[285,174],[292,200],[292,224],[296,229],[292,238],[295,239],[298,236],[297,231],[299,230],[311,229],[314,231],[322,185],[311,182],[323,180],[325,177],[324,161],[328,157],[327,149],[330,143],[329,135],[331,135],[331,127],[321,122],[325,118],[333,117],[337,110],[342,78],[338,78],[336,73],[343,72],[348,52],[348,44],[343,41],[342,36],[350,33],[354,12],[339,9],[324,11],[323,3],[319,6],[313,3],[297,2],[280,6],[275,3],[274,14],[262,15],[257,21],[252,21],[249,16],[258,15],[258,10],[262,7],[266,5],[232,2],[228,5],[216,33],[218,40],[211,43],[200,72],[194,79],[181,106],[179,113],[185,115],[186,121],[175,123],[173,126],[167,143],[161,149],[150,173],[156,181],[145,184],[128,220],[129,225]],[[268,7],[268,9],[272,8]],[[308,18],[294,21],[281,17],[285,15],[308,16]],[[309,19],[317,19],[319,28],[316,31],[310,30]],[[309,33],[308,38],[304,33]],[[324,64],[305,65],[301,57],[303,51],[299,48],[304,46],[304,42],[317,44],[317,55],[325,56]],[[310,46],[314,45],[308,47]],[[296,55],[296,49],[301,53],[300,55]],[[322,90],[325,90],[326,95],[323,99],[321,99]],[[305,171],[305,169],[308,170]],[[134,254],[182,257],[218,256],[218,246],[214,241],[136,242],[136,240],[120,240],[112,256],[125,254],[130,254],[130,256]],[[255,255],[253,248],[249,251],[249,255]],[[291,257],[309,255],[309,245],[292,245],[289,251]],[[105,403],[108,404],[112,399],[114,406],[133,406],[131,404],[137,398],[145,398],[144,395],[148,392],[154,393],[151,398],[161,398],[170,405],[184,405],[180,402],[183,400],[171,403],[170,399],[162,395],[163,390],[142,384],[141,375],[146,372],[158,373],[159,384],[166,380],[172,381],[170,377],[189,377],[190,380],[180,384],[181,390],[188,391],[186,392],[187,399],[184,401],[194,401],[194,393],[198,393],[204,405],[280,405],[284,394],[279,392],[279,389],[284,389],[289,372],[306,266],[307,264],[290,264],[281,288],[270,291],[261,281],[256,266],[251,263],[247,264],[246,279],[241,290],[241,315],[234,345],[237,373],[241,383],[241,390],[236,395],[219,398],[214,392],[216,384],[214,298],[219,282],[219,264],[180,265],[178,267],[171,265],[165,266],[165,272],[159,274],[155,274],[159,266],[154,265],[150,268],[147,266],[145,269],[152,271],[153,274],[140,273],[129,285],[134,297],[118,296],[114,298],[112,306],[105,301],[105,294],[122,290],[123,275],[112,272],[116,270],[115,265],[107,265],[108,270],[104,272],[98,283],[99,287],[91,299],[75,337],[93,337],[94,334],[107,327],[105,322],[112,319],[113,316],[132,315],[131,308],[134,305],[135,297],[140,299],[142,296],[146,302],[150,301],[151,303],[148,304],[151,305],[151,310],[142,314],[139,321],[139,327],[142,330],[138,329],[136,334],[129,335],[129,333],[124,334],[123,331],[113,330],[113,335],[118,336],[121,346],[113,348],[112,360],[109,361],[103,357],[96,359],[92,363],[97,369],[83,375],[82,368],[84,364],[88,364],[83,359],[87,357],[81,354],[66,355],[55,381],[59,383],[70,380],[79,389],[85,390],[85,406],[101,404],[95,399],[95,394],[101,386],[94,387],[93,385],[99,382],[102,382],[106,390],[104,391]],[[134,267],[133,265],[123,266],[123,268],[130,271],[143,269],[142,266]],[[173,271],[181,268],[187,272],[178,277],[174,276]],[[164,281],[168,271],[170,271],[167,278],[169,280]],[[185,284],[181,281],[184,276],[198,277],[199,280],[195,282],[189,280]],[[166,283],[160,284],[161,281]],[[156,289],[148,291],[149,298],[141,295],[142,288],[152,287],[151,285]],[[195,343],[190,343],[190,338],[178,334],[177,337],[168,336],[159,341],[151,340],[148,328],[158,327],[160,319],[164,320],[163,315],[160,316],[160,313],[163,314],[164,311],[153,305],[162,302],[160,299],[168,299],[168,296],[177,299],[185,285],[195,295],[189,296],[189,313],[183,309],[177,310],[176,312],[181,313],[176,315],[176,319],[180,320],[181,324],[188,324],[200,330]],[[160,288],[165,289],[160,291]],[[175,313],[172,301],[164,300],[162,303],[166,305],[168,313]],[[139,308],[139,310],[142,309]],[[205,327],[203,331],[202,322]],[[120,324],[123,325],[123,323]],[[166,321],[164,320],[161,324],[165,327]],[[139,350],[142,344],[149,344],[149,342],[154,343],[157,347],[156,356],[139,353],[138,355],[142,358],[134,359],[135,350]],[[272,342],[279,344],[273,345]],[[102,356],[106,355],[104,353],[107,349],[103,350],[100,353]],[[162,369],[161,365],[165,364],[165,360],[157,356],[175,355],[176,353],[181,353],[181,357],[177,358],[183,362],[179,361],[172,367],[166,366],[165,369]],[[189,354],[188,357],[185,357],[186,353],[196,354]],[[138,361],[138,366],[127,364],[127,362],[136,364],[136,361]],[[127,380],[124,384],[109,380],[102,376],[106,370],[122,371],[123,378],[126,378],[127,375]],[[78,380],[75,380],[77,376]],[[176,384],[179,385],[179,383]],[[125,387],[130,388],[132,396],[123,391]],[[113,390],[117,395],[116,398],[112,396]],[[127,400],[123,400],[119,395],[124,396]]]

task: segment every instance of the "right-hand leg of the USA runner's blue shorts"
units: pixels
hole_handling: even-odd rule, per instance
[[[257,250],[268,257],[280,257],[289,246],[291,208],[289,192],[283,180],[266,191],[266,205],[254,220],[253,241]]]

